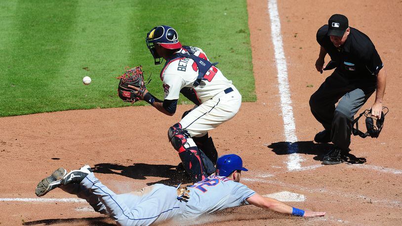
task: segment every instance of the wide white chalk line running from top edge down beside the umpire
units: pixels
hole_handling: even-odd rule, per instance
[[[297,142],[296,126],[293,118],[292,101],[290,99],[289,82],[287,79],[286,58],[283,51],[283,41],[281,36],[281,21],[279,19],[278,4],[276,0],[268,0],[268,11],[271,20],[271,36],[275,50],[275,60],[278,70],[279,93],[281,95],[281,110],[286,142],[290,142],[287,152],[287,169],[289,171],[301,168],[302,157],[297,153],[298,146],[292,144]]]

